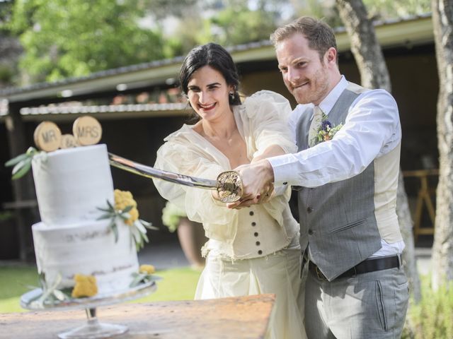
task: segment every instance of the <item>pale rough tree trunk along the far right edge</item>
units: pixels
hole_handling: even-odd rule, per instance
[[[439,97],[437,99],[437,146],[439,184],[434,245],[432,287],[453,280],[453,2],[432,0]]]

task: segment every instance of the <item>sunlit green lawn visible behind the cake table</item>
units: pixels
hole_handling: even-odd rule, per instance
[[[191,300],[200,277],[200,271],[192,268],[172,268],[156,272],[162,280],[157,283],[156,292],[132,302],[157,302],[168,300]],[[21,295],[38,286],[38,272],[35,266],[0,266],[0,313],[24,312]]]

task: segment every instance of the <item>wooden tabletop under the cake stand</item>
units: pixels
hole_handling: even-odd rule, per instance
[[[264,338],[275,295],[253,295],[183,302],[116,304],[99,307],[101,323],[126,325],[113,338],[258,339]],[[86,323],[84,309],[0,314],[0,338],[57,338]]]

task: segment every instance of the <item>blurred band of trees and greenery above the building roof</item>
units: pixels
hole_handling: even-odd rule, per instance
[[[430,11],[430,0],[364,2],[375,19]],[[16,38],[23,53],[0,55],[0,87],[171,58],[210,41],[268,40],[302,15],[343,25],[335,1],[325,0],[3,0],[0,44]]]

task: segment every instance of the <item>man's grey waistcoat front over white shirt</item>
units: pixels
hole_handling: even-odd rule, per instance
[[[327,119],[334,126],[345,124],[350,105],[360,91],[365,90],[354,86],[354,91],[350,90],[351,86],[343,91],[328,113]],[[297,124],[299,151],[308,148],[310,124],[311,114],[302,114]],[[372,162],[350,179],[316,188],[302,187],[299,191],[301,246],[304,249],[309,244],[311,259],[328,280],[381,248],[382,236],[374,214],[374,175]],[[399,232],[397,222],[392,223],[396,223],[396,232]],[[394,232],[393,226],[391,232]]]

